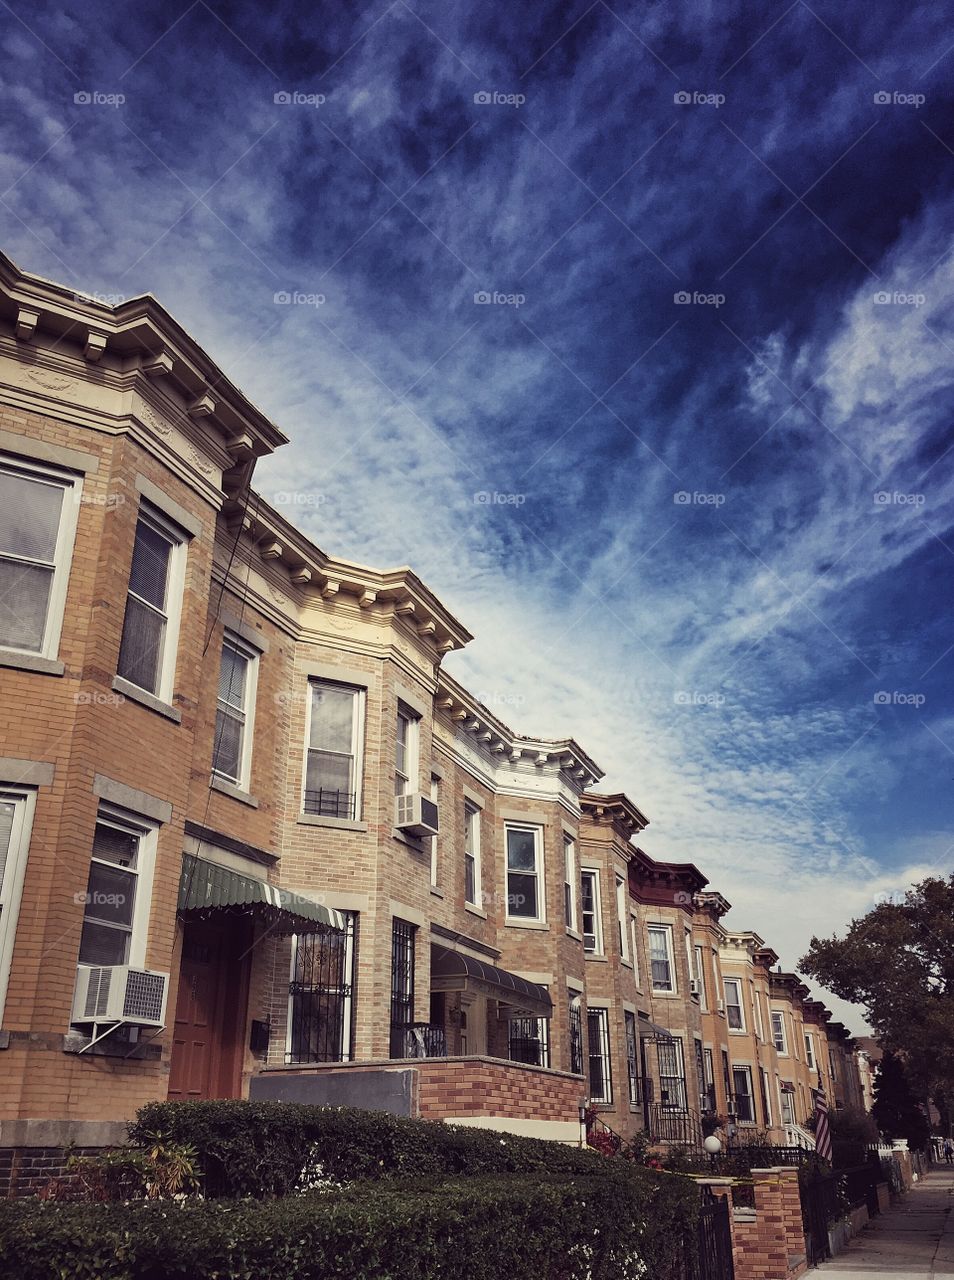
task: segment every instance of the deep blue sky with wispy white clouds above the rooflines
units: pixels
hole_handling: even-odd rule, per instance
[[[951,869],[941,8],[12,0],[0,29],[6,252],[155,293],[291,435],[261,490],[412,564],[476,634],[448,668],[576,736],[652,855],[786,964]]]

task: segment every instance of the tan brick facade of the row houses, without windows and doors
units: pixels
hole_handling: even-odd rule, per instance
[[[604,1121],[624,1135],[647,1123],[653,1129],[652,1107],[674,1101],[662,1097],[659,1028],[663,1039],[668,1033],[683,1046],[680,1106],[698,1120],[706,1088],[697,1062],[708,1048],[716,1105],[727,1111],[718,1064],[722,1050],[735,1053],[740,1042],[718,1009],[721,968],[743,973],[747,991],[761,984],[766,1002],[770,979],[745,947],[729,941],[713,906],[718,895],[703,892],[706,877],[638,849],[648,819],[626,796],[593,790],[601,769],[575,740],[515,733],[444,671],[446,657],[470,635],[412,572],[328,556],[250,489],[255,458],[284,438],[158,303],[110,311],[78,302],[3,257],[0,298],[0,463],[54,468],[72,485],[64,490],[70,502],[82,488],[55,653],[0,646],[0,788],[18,788],[33,806],[17,873],[19,908],[4,905],[0,916],[15,927],[0,1011],[0,1121],[54,1120],[79,1132],[106,1108],[110,1119],[129,1119],[170,1088],[175,1096],[245,1096],[254,1076],[289,1066],[289,1016],[300,1029],[307,1001],[333,1030],[337,1014],[328,1002],[344,1010],[333,1043],[309,1050],[312,1057],[342,1057],[355,1070],[387,1060],[394,920],[414,929],[408,1020],[443,1036],[448,1055],[416,1068],[421,1114],[571,1126],[599,1071]],[[24,298],[40,317],[26,339],[14,337]],[[95,365],[85,355],[90,328],[108,338]],[[168,699],[117,677],[136,525],[149,506],[181,530],[184,548]],[[256,673],[250,773],[241,786],[213,769],[227,632],[247,646]],[[357,691],[356,799],[346,815],[305,812],[315,681]],[[416,737],[410,791],[437,790],[434,846],[394,826],[398,709]],[[136,964],[169,980],[163,1028],[142,1036],[106,1028],[97,1039],[88,1024],[72,1021],[72,1002],[104,804],[155,832],[154,852],[143,854],[147,910],[134,934]],[[479,829],[479,892],[471,902],[467,806]],[[508,874],[510,828],[531,836],[530,879],[525,870]],[[567,841],[575,867],[569,916]],[[183,852],[353,913],[353,973],[342,970],[342,989],[332,992],[321,972],[319,995],[289,995],[293,941],[274,919],[179,913]],[[526,842],[519,856],[526,856]],[[598,886],[586,941],[580,869],[594,873]],[[537,897],[533,916],[528,893]],[[670,991],[653,980],[652,924],[671,931]],[[503,970],[505,986],[435,974],[448,952]],[[507,995],[507,974],[546,987],[552,1001],[548,1047],[535,1064],[502,1061],[517,1052],[517,1041],[521,1053],[535,1053],[543,1042],[529,1020],[540,1011],[539,993],[524,1007]],[[183,1047],[190,1000],[206,978],[210,1047],[193,1061]],[[822,1025],[823,1006],[799,1001],[805,1025]],[[571,1002],[579,1005],[579,1041]],[[594,1032],[602,1014],[589,1016],[599,1011],[604,1043]],[[256,1050],[252,1023],[265,1034]],[[841,1033],[826,1028],[820,1050],[822,1042],[826,1064],[841,1053],[845,1076],[850,1055]],[[771,1037],[747,1042],[748,1056],[771,1061],[772,1052]],[[310,1068],[319,1071],[320,1064],[297,1064]],[[845,1098],[849,1092],[843,1085]]]

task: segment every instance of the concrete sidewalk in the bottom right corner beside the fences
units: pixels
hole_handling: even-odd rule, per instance
[[[935,1166],[816,1272],[844,1280],[954,1280],[953,1204],[954,1169]]]

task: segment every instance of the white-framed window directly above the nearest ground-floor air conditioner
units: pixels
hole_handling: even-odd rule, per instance
[[[79,964],[145,960],[155,828],[100,806],[85,896]]]

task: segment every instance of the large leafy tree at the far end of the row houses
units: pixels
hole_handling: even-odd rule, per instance
[[[954,876],[878,904],[845,937],[812,938],[800,969],[864,1006],[921,1093],[954,1093]]]

